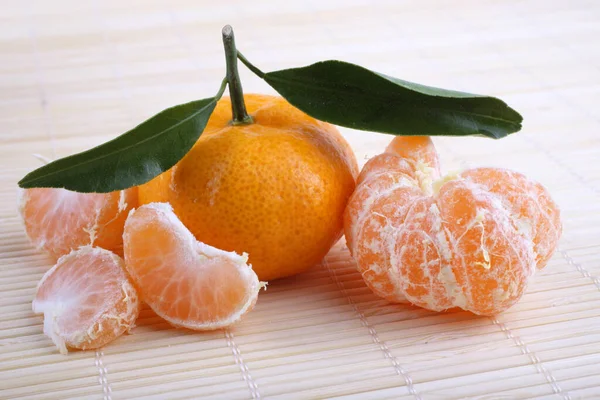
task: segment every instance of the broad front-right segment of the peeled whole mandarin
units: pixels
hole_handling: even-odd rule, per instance
[[[465,304],[453,304],[491,315],[516,303],[535,271],[532,237],[519,232],[497,196],[468,180],[444,184],[437,204],[463,286]]]

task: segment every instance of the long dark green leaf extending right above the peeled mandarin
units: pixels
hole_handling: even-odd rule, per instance
[[[498,139],[519,131],[523,120],[494,97],[423,86],[342,61],[268,73],[248,66],[295,107],[353,129]]]

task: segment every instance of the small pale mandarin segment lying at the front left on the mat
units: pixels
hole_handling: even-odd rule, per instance
[[[44,333],[61,353],[96,349],[134,327],[138,294],[123,260],[84,246],[61,257],[37,287],[33,311],[44,314]]]

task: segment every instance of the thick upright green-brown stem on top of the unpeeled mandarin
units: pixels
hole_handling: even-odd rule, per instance
[[[237,69],[237,49],[231,25],[225,25],[222,34],[223,47],[225,48],[225,62],[227,63],[227,82],[229,96],[231,97],[232,123],[234,125],[251,124],[253,122],[252,117],[246,111],[242,82],[240,81]]]

